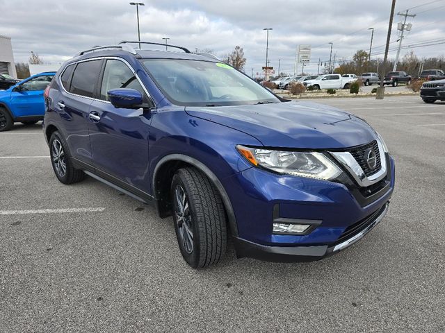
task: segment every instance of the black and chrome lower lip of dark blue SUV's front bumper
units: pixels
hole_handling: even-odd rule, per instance
[[[388,208],[389,201],[378,210],[378,213],[373,216],[371,221],[364,223],[362,228],[357,228],[348,239],[330,245],[292,247],[264,246],[236,237],[234,238],[236,256],[238,258],[251,257],[267,262],[313,262],[320,260],[334,253],[338,253],[340,250],[348,248],[359,241],[359,239],[362,239],[365,234],[370,232],[375,225],[378,225],[378,223],[382,221],[388,212]]]

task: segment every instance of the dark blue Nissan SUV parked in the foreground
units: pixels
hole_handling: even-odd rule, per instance
[[[60,182],[89,175],[154,203],[194,268],[229,237],[237,257],[318,260],[387,213],[394,160],[366,121],[281,99],[209,55],[128,43],[82,51],[45,92]]]

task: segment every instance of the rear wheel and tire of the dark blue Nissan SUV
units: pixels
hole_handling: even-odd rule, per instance
[[[85,178],[83,171],[73,167],[70,151],[67,149],[65,139],[58,131],[54,132],[49,139],[49,155],[54,173],[63,184],[73,184]]]

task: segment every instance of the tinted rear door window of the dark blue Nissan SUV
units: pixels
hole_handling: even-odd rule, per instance
[[[72,75],[70,92],[76,95],[92,97],[95,92],[102,60],[79,62]]]

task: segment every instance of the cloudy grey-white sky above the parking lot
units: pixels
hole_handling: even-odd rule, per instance
[[[391,0],[150,0],[141,1],[141,40],[211,49],[222,56],[243,47],[248,74],[261,71],[269,35],[270,66],[293,73],[298,44],[312,45],[312,65],[305,71],[316,74],[318,58],[350,58],[357,49],[369,50],[375,28],[373,53],[382,53],[386,41]],[[425,6],[421,6],[426,4]],[[412,8],[416,7],[416,8]],[[16,62],[26,62],[30,51],[45,62],[63,62],[74,53],[94,45],[137,40],[136,7],[124,0],[0,0],[0,34],[12,37]],[[419,42],[445,41],[445,0],[397,0],[396,12],[412,8],[408,18],[412,31],[403,46]],[[391,49],[398,39],[394,18]],[[410,51],[403,49],[401,55]],[[419,56],[445,54],[445,44],[415,48]],[[394,57],[396,51],[389,53]],[[381,57],[382,54],[375,57]]]

